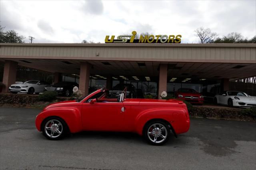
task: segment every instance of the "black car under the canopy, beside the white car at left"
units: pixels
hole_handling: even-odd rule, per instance
[[[73,88],[75,86],[79,87],[79,84],[76,82],[58,82],[51,86],[46,86],[44,90],[55,91],[58,92],[59,95],[68,97],[73,93]]]

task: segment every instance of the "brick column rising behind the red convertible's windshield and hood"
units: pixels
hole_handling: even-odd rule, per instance
[[[90,68],[91,68],[90,63],[81,62],[79,90],[81,90],[81,92],[84,96],[88,94],[88,90],[89,90]]]

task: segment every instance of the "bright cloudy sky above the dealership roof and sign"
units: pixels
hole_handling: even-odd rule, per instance
[[[106,35],[149,32],[182,35],[182,43],[196,43],[194,30],[210,28],[256,35],[256,0],[227,1],[85,1],[0,0],[0,25],[34,43],[104,42]]]

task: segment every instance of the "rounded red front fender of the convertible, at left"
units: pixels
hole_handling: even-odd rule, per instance
[[[82,107],[54,107],[46,109],[36,116],[36,128],[42,131],[41,124],[47,117],[57,116],[62,118],[68,125],[71,133],[82,131]]]

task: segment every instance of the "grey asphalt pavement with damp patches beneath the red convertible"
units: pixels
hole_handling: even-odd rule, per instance
[[[41,109],[0,107],[0,169],[256,169],[256,123],[192,118],[188,133],[152,146],[133,133],[82,132],[49,141]]]

